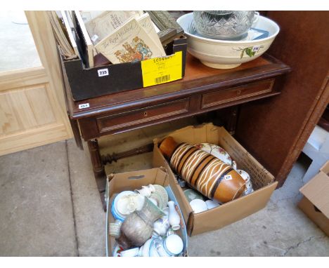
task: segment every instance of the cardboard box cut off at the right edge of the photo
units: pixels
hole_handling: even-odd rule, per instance
[[[299,192],[304,196],[298,207],[329,236],[329,161]]]

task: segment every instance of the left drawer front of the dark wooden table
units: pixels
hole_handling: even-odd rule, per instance
[[[120,128],[142,125],[150,121],[166,119],[188,113],[189,98],[167,102],[162,105],[136,109],[131,112],[98,117],[96,119],[99,133],[111,132]]]

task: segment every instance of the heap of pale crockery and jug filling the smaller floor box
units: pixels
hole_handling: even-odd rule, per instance
[[[161,185],[117,194],[112,215],[115,223],[110,223],[109,233],[117,241],[113,256],[167,257],[182,253],[183,241],[175,234],[181,228],[181,218]]]

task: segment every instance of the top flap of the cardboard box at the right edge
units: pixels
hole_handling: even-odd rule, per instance
[[[299,189],[299,192],[307,197],[316,208],[321,210],[323,215],[329,218],[329,176],[323,172],[326,170],[329,172],[329,161],[325,163],[315,177]]]

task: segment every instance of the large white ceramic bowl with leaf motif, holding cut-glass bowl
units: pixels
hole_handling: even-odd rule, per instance
[[[268,37],[252,41],[226,41],[198,36],[195,32],[191,33],[193,13],[182,15],[177,22],[184,29],[187,36],[188,52],[198,58],[204,65],[217,69],[238,67],[244,62],[258,58],[269,49],[280,31],[276,22],[259,15],[259,19],[252,25],[252,28],[268,31]],[[254,55],[247,53],[246,49],[254,51],[255,53],[252,53]]]

